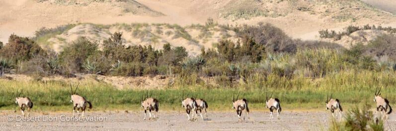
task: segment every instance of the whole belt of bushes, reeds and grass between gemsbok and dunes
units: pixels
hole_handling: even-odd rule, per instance
[[[206,27],[214,24],[209,21]],[[123,26],[136,30],[145,25]],[[184,47],[170,44],[164,44],[162,49],[125,46],[121,33],[103,41],[100,50],[97,42],[80,38],[60,54],[42,49],[30,38],[11,35],[8,44],[0,49],[1,73],[26,74],[35,79],[0,79],[0,107],[13,107],[13,94],[22,88],[39,110],[42,106],[67,107],[69,83],[41,78],[76,77],[75,74],[171,77],[168,87],[151,90],[161,103],[167,103],[161,105],[170,109],[178,109],[182,90],[206,99],[214,110],[229,109],[232,93],[238,91],[252,109],[263,109],[265,92],[274,92],[285,109],[321,109],[328,92],[334,92],[333,96],[341,99],[347,109],[349,105],[362,104],[362,99],[371,99],[376,87],[383,87],[387,92],[383,95],[390,101],[396,100],[391,95],[396,92],[396,38],[392,35],[344,49],[331,43],[293,40],[269,24],[222,28],[234,30],[241,41],[222,40],[216,49],[202,49],[198,56],[188,56]],[[208,78],[214,82],[206,82]],[[119,90],[100,80],[79,82],[80,94],[96,105],[94,110],[138,107],[140,94],[145,92]]]

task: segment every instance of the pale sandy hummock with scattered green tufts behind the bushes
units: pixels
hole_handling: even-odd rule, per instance
[[[201,48],[212,48],[220,40],[237,42],[239,38],[232,27],[220,26],[211,20],[206,25],[197,24],[186,27],[145,23],[74,24],[52,29],[42,28],[36,32],[36,39],[38,44],[43,47],[60,52],[65,46],[80,37],[102,44],[103,40],[110,38],[116,32],[123,34],[121,39],[125,45],[151,45],[159,49],[164,44],[171,44],[172,46],[183,46],[190,55],[198,55]]]

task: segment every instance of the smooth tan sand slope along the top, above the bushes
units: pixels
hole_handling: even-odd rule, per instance
[[[0,41],[7,41],[10,34],[33,36],[41,27],[53,28],[57,25],[73,23],[168,23],[186,26],[204,24],[207,18],[214,18],[221,24],[257,24],[268,22],[284,30],[293,38],[317,40],[320,29],[343,28],[348,25],[388,24],[396,25],[396,17],[390,13],[367,7],[357,0],[321,3],[320,0],[289,1],[279,0],[135,0],[136,10],[125,12],[123,3],[91,2],[82,4],[54,4],[62,0],[0,0]],[[79,0],[89,1],[89,0]],[[92,1],[92,0],[91,0]],[[311,1],[311,0],[310,0]],[[365,0],[374,3],[376,0]],[[381,2],[380,9],[392,10],[395,1]],[[130,2],[133,3],[133,2]],[[377,3],[376,3],[377,4]],[[254,5],[258,10],[243,8]],[[373,4],[374,5],[374,4]],[[147,8],[143,8],[147,7]],[[241,9],[239,9],[241,8]],[[142,11],[142,9],[146,9]],[[238,10],[239,9],[239,10]],[[153,11],[163,15],[150,15]],[[233,12],[234,11],[234,12]],[[251,10],[250,10],[251,11]],[[264,11],[264,12],[263,12]],[[136,13],[138,12],[138,13]],[[139,13],[141,12],[141,13]],[[255,15],[254,13],[267,13]],[[231,14],[230,14],[231,13]],[[252,15],[249,18],[232,19],[234,15]],[[233,17],[230,16],[233,15]]]

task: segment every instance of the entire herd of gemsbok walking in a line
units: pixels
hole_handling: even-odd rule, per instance
[[[70,97],[71,100],[70,102],[73,103],[73,116],[75,116],[75,111],[77,109],[77,116],[79,116],[79,110],[82,112],[80,117],[84,117],[84,112],[85,108],[87,105],[89,105],[89,109],[92,108],[91,102],[87,101],[85,97],[80,96],[79,94],[76,93],[79,85],[76,86],[76,89],[73,90],[72,85],[70,84]],[[29,117],[30,115],[30,110],[33,108],[33,102],[29,97],[20,97],[22,94],[22,91],[18,93],[16,91],[16,98],[15,98],[15,103],[18,104],[20,111],[22,112],[23,117],[25,117],[25,109],[28,109],[28,114],[27,116]],[[147,115],[147,110],[149,110],[149,120],[155,120],[157,119],[158,116],[158,107],[159,107],[159,101],[156,98],[152,97],[151,93],[147,92],[145,98],[143,98],[143,95],[141,96],[141,104],[142,108],[144,109],[144,118],[143,120],[146,120],[146,115]],[[272,98],[272,94],[270,97],[268,97],[268,94],[266,94],[266,99],[265,99],[265,107],[269,109],[270,111],[270,117],[269,119],[272,120],[273,117],[273,111],[276,110],[277,113],[277,118],[280,119],[280,113],[282,111],[282,107],[280,104],[280,100],[278,98]],[[338,115],[342,115],[342,107],[340,104],[339,99],[333,99],[332,98],[332,93],[330,94],[330,97],[326,97],[326,110],[330,110],[332,113],[333,117],[337,117]],[[187,94],[188,96],[188,94]],[[205,118],[208,119],[207,115],[207,109],[208,109],[208,103],[204,99],[196,99],[194,97],[184,97],[184,91],[183,94],[181,95],[181,106],[185,109],[186,115],[187,115],[187,121],[195,121],[198,119],[198,111],[199,115],[202,120],[205,120],[204,117],[202,116],[202,112],[205,113]],[[239,92],[237,95],[237,99],[235,99],[235,93],[233,93],[233,109],[237,111],[237,116],[238,116],[238,121],[244,121],[245,116],[249,119],[249,106],[246,98],[239,98]],[[376,102],[377,106],[377,115],[379,115],[379,112],[381,111],[381,115],[385,115],[384,119],[388,119],[388,114],[392,113],[392,107],[389,104],[388,99],[381,97],[381,88],[376,89],[376,92],[374,93],[374,102]],[[338,110],[337,112],[335,112]],[[155,112],[155,113],[152,113]],[[241,118],[243,112],[243,120]],[[190,117],[190,113],[192,113]],[[335,116],[334,116],[335,114]],[[195,116],[195,117],[194,117]]]

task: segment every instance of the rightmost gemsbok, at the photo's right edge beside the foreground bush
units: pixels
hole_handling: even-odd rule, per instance
[[[378,91],[378,92],[377,92]],[[389,101],[388,101],[388,99],[384,99],[384,98],[382,98],[380,95],[381,95],[381,88],[380,88],[380,90],[378,90],[378,87],[377,87],[377,89],[376,89],[376,92],[375,92],[375,96],[374,96],[374,102],[376,102],[377,103],[377,114],[378,114],[378,111],[381,109],[381,112],[383,112],[384,113],[384,115],[385,115],[385,118],[388,120],[388,114],[391,114],[392,113],[392,107],[391,107],[391,105],[389,104]],[[389,107],[389,111],[388,111],[388,107]],[[388,112],[387,112],[388,111]]]

